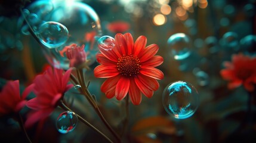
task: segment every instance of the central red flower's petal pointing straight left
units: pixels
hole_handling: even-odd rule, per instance
[[[109,78],[113,76],[117,76],[119,74],[116,67],[110,67],[110,66],[97,66],[94,69],[94,76],[100,77],[100,78]]]

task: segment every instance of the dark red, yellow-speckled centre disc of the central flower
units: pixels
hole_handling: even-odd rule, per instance
[[[140,70],[140,59],[136,55],[123,55],[116,64],[122,76],[135,76]]]

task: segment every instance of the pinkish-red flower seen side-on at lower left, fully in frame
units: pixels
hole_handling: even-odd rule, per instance
[[[64,73],[62,69],[49,68],[44,74],[36,76],[33,81],[35,88],[33,92],[36,97],[27,101],[27,107],[35,111],[29,114],[25,126],[29,127],[38,120],[48,117],[58,105],[58,101],[63,98],[64,93],[73,87],[69,82],[69,69]]]

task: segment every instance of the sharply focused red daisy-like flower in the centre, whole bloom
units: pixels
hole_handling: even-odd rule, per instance
[[[163,79],[164,73],[156,69],[163,63],[158,52],[158,45],[152,44],[145,48],[147,39],[140,36],[134,43],[130,33],[116,34],[115,47],[112,50],[99,48],[97,61],[101,65],[95,67],[95,77],[108,78],[102,85],[101,91],[107,98],[125,98],[127,93],[132,104],[141,102],[141,92],[150,98],[153,91],[159,88],[156,79]]]

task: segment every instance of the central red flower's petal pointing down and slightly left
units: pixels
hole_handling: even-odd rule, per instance
[[[117,100],[122,100],[127,95],[129,90],[129,78],[122,76],[116,84],[115,97]]]

